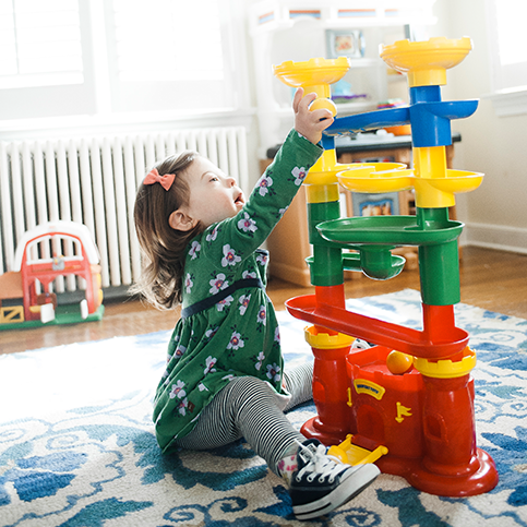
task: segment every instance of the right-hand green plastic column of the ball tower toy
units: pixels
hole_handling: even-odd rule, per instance
[[[422,230],[448,227],[448,208],[417,208]],[[429,306],[453,306],[460,301],[457,239],[419,247],[422,301]]]

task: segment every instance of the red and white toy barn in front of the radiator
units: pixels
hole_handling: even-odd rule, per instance
[[[50,284],[59,276],[84,278],[80,309],[58,306]],[[99,253],[88,228],[48,221],[27,230],[16,247],[14,271],[0,276],[0,331],[100,320],[103,313]]]

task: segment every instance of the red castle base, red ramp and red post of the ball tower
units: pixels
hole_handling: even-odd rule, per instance
[[[460,361],[468,349],[468,333],[455,326],[452,306],[423,304],[421,332],[351,313],[342,306],[321,304],[316,296],[289,299],[286,307],[298,319],[378,345],[348,354],[338,350],[335,357],[313,347],[313,399],[319,416],[304,423],[304,435],[338,445],[348,433],[344,429],[352,429],[355,445],[388,450],[375,462],[383,472],[400,476],[430,494],[470,496],[498,484],[494,462],[475,444],[475,390],[469,372],[442,376],[414,368],[395,374],[386,366],[394,349],[431,363],[446,358]],[[342,411],[346,405],[349,427],[348,412]]]

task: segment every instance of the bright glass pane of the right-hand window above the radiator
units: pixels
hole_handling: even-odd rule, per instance
[[[113,11],[121,81],[223,80],[217,0],[113,0]]]

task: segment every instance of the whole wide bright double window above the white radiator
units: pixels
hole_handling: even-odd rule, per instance
[[[1,119],[236,107],[240,4],[0,0]]]

